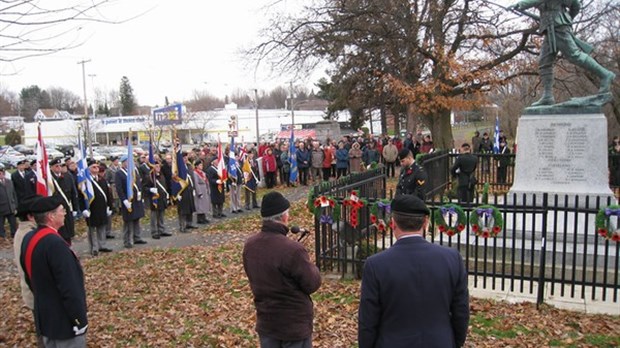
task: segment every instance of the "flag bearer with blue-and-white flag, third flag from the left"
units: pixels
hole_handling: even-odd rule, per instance
[[[120,161],[121,168],[116,172],[114,182],[121,201],[123,244],[125,248],[132,248],[133,244],[146,244],[146,241],[142,239],[140,228],[140,219],[144,217],[144,203],[140,192],[142,181],[133,161],[131,131],[127,139],[127,154],[121,156]]]

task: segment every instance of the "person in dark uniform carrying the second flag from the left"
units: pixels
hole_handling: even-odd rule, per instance
[[[80,164],[78,163],[78,168]],[[82,172],[82,168],[78,173]],[[88,174],[86,180],[90,182],[90,187],[94,189],[92,199],[81,199],[80,209],[82,216],[86,219],[88,226],[88,246],[93,256],[99,252],[109,253],[112,249],[106,247],[106,226],[108,217],[112,215],[112,192],[108,182],[104,178],[99,178],[99,163],[95,160],[88,160]]]

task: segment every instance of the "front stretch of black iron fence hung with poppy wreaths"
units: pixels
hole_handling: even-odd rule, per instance
[[[346,189],[344,192],[336,198],[340,204],[346,199]],[[433,214],[445,210],[442,216],[447,226],[455,230],[457,223],[462,223],[463,230],[449,236],[439,232],[433,222],[426,237],[459,250],[474,287],[536,294],[538,303],[545,291],[551,296],[618,302],[620,242],[603,238],[595,227],[599,211],[614,202],[580,201],[578,197],[569,202],[547,194],[537,198],[540,204],[526,206],[519,203],[527,202],[525,197],[492,196],[489,203],[504,223],[497,236],[488,238],[476,235],[470,225],[481,202],[458,206],[456,210],[462,210],[459,217],[455,209],[445,209],[445,199],[429,201]],[[396,242],[383,208],[386,203],[375,196],[361,207],[320,208],[315,233],[316,262],[322,271],[361,277],[364,260]],[[358,217],[352,220],[355,215]],[[617,218],[611,220],[609,228],[616,229],[620,225]]]

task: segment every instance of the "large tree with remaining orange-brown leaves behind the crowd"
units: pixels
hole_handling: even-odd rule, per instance
[[[453,108],[483,105],[489,90],[536,73],[526,64],[536,30],[486,0],[316,0],[300,15],[274,16],[247,53],[286,72],[327,61],[350,109],[401,104],[409,130],[420,117],[435,145],[451,148]]]

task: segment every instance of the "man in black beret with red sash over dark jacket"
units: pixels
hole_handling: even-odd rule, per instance
[[[34,294],[35,325],[44,345],[86,347],[84,272],[58,234],[67,214],[63,203],[54,195],[30,204],[37,228],[24,237],[20,265]]]

